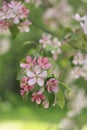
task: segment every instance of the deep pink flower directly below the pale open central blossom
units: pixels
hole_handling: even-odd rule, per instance
[[[34,92],[32,94],[32,102],[36,101],[37,104],[40,104],[42,100],[45,99],[45,96],[43,95],[42,92]]]

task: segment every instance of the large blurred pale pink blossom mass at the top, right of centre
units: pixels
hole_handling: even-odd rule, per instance
[[[57,29],[60,24],[69,26],[72,8],[67,0],[48,0],[47,2],[49,2],[51,6],[46,9],[43,15],[45,23],[54,30]]]

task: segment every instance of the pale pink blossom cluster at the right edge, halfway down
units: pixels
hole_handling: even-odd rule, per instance
[[[71,77],[78,79],[83,77],[87,80],[87,55],[82,54],[80,51],[77,52],[74,56],[72,63],[75,65],[71,71]]]

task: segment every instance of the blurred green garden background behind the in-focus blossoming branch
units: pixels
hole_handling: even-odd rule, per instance
[[[60,39],[70,27],[79,26],[73,19],[75,13],[87,15],[87,0],[25,0],[25,5],[35,23],[56,32]],[[58,106],[38,109],[20,96],[20,83],[16,80],[19,63],[30,49],[28,45],[23,47],[23,43],[32,39],[38,42],[43,32],[32,24],[29,33],[18,33],[14,39],[10,32],[0,33],[0,130],[87,130],[86,80],[72,83],[65,73],[64,80],[71,92],[63,110]],[[67,60],[60,56],[56,62],[58,69],[66,72]]]

